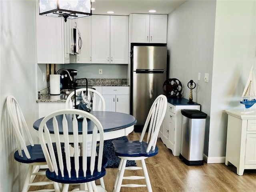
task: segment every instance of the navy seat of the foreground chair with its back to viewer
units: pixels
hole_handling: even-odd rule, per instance
[[[79,158],[82,158],[82,157],[79,157]],[[82,160],[80,159],[78,178],[77,178],[75,168],[74,168],[74,157],[71,157],[71,178],[68,177],[68,171],[66,169],[64,169],[64,177],[61,176],[60,171],[57,176],[55,172],[50,172],[49,169],[46,170],[46,177],[52,181],[55,181],[58,183],[64,183],[64,184],[80,184],[80,183],[94,181],[99,178],[102,178],[106,174],[105,167],[107,165],[107,161],[108,159],[106,157],[103,157],[101,172],[97,172],[98,164],[96,163],[93,175],[91,176],[90,157],[87,157],[87,172],[86,172],[86,176],[84,177],[84,173],[82,171]],[[98,162],[98,157],[96,157],[96,162]]]

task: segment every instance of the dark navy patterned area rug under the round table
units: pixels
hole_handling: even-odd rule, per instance
[[[110,139],[110,140],[104,141],[103,156],[108,158],[108,165],[106,168],[118,168],[119,163],[120,163],[120,158],[118,156],[116,156],[116,154],[114,152],[114,147],[112,145],[113,140],[128,141],[128,138],[126,136],[123,136],[123,137],[119,137],[116,139]],[[129,166],[136,166],[136,162],[128,160],[126,162],[126,167],[129,167]]]

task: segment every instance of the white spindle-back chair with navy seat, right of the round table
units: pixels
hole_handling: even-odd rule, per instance
[[[125,141],[125,140],[112,141],[115,154],[119,158],[121,158],[113,192],[119,192],[121,187],[133,187],[133,188],[147,187],[148,192],[152,192],[152,187],[150,184],[150,179],[148,176],[145,159],[158,154],[158,147],[156,146],[156,141],[158,138],[158,132],[160,130],[160,126],[164,119],[166,108],[167,108],[166,96],[164,95],[158,96],[150,108],[150,111],[148,113],[148,117],[146,119],[139,141]],[[144,142],[142,140],[144,138],[147,128],[149,128],[148,136],[146,138],[146,142]],[[126,167],[127,160],[140,160],[142,162],[142,167]],[[129,177],[124,176],[125,170],[140,170],[140,169],[143,170],[144,176],[129,176]],[[122,184],[123,179],[128,179],[128,180],[145,179],[146,185]]]

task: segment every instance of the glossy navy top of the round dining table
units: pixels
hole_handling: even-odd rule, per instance
[[[110,132],[115,130],[120,130],[123,128],[130,127],[134,125],[137,120],[134,116],[125,114],[125,113],[119,113],[119,112],[111,112],[111,111],[91,111],[90,114],[94,115],[100,123],[102,124],[102,127],[104,129],[104,132]],[[68,127],[72,128],[72,116],[66,116],[68,120]],[[62,115],[56,117],[59,125],[60,134],[63,134],[62,130]],[[34,129],[38,130],[39,125],[43,118],[40,118],[36,120],[33,124]],[[52,120],[49,120],[46,123],[50,133],[54,133],[53,127],[52,127]],[[92,129],[94,127],[94,123],[92,123],[90,120],[88,120],[88,134],[92,134]],[[82,121],[78,121],[78,131],[81,130],[80,134],[82,134]],[[72,134],[72,130],[69,131],[70,134]]]

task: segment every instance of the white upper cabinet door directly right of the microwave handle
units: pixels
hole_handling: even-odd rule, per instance
[[[76,63],[92,63],[92,17],[78,18],[76,23],[82,39],[82,48],[80,54],[76,55]]]

